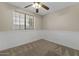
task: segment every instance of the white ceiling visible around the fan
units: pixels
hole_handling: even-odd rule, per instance
[[[8,4],[17,6],[19,8],[24,8],[25,6],[32,4],[32,2],[8,2]],[[71,6],[71,5],[78,4],[78,3],[77,2],[43,2],[43,4],[47,5],[50,9],[47,11],[43,8],[40,8],[39,13],[38,13],[39,15],[46,15],[49,13],[53,13],[54,11],[58,11],[67,6]],[[33,8],[33,7],[28,7],[25,10],[36,13],[35,8]]]

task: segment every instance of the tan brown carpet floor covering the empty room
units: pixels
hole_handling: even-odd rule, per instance
[[[0,51],[0,56],[79,56],[79,51],[40,39]]]

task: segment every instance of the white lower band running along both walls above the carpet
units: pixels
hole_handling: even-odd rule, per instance
[[[0,32],[0,50],[13,48],[39,39],[79,50],[79,32],[49,30]]]

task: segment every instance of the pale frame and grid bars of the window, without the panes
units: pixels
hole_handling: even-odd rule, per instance
[[[33,30],[34,28],[35,28],[35,26],[34,26],[34,24],[35,24],[35,20],[34,20],[34,15],[30,15],[30,14],[26,14],[26,13],[22,13],[22,12],[19,12],[19,11],[14,11],[14,13],[21,13],[21,14],[24,14],[24,28],[23,29],[20,29],[20,16],[19,16],[19,25],[17,25],[17,26],[19,26],[19,28],[18,29],[16,29],[16,28],[14,28],[13,30]],[[33,17],[33,20],[32,20],[32,28],[30,28],[30,26],[29,26],[29,28],[27,29],[26,27],[26,15],[28,15],[29,17],[30,16],[32,16]],[[13,14],[13,17],[15,17],[14,16],[14,14]],[[16,25],[14,24],[14,19],[13,19],[13,27],[15,27]],[[30,25],[30,24],[29,24]]]

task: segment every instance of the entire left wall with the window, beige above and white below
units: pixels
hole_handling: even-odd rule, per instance
[[[19,11],[35,16],[35,29],[26,31],[15,31],[12,29],[12,12]],[[16,47],[38,39],[41,39],[42,17],[34,13],[27,12],[21,8],[0,3],[0,50]]]

